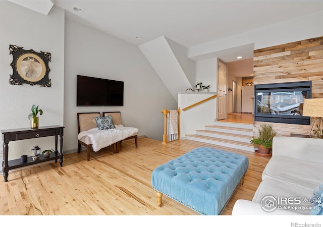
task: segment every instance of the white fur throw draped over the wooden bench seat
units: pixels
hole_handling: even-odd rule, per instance
[[[138,133],[137,128],[120,126],[116,129],[89,129],[80,132],[77,138],[81,140],[81,138],[83,138],[84,136],[89,137],[92,144],[92,149],[96,152],[104,147],[110,146],[118,141],[121,141],[129,136],[133,136]]]

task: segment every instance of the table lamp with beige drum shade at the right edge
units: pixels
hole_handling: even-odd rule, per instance
[[[303,116],[314,118],[308,135],[314,138],[323,138],[323,98],[305,98]]]

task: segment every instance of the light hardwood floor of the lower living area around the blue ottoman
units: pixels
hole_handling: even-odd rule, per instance
[[[199,215],[190,208],[163,196],[158,208],[151,188],[155,167],[188,151],[208,146],[246,155],[249,168],[243,186],[238,186],[222,215],[230,215],[237,199],[251,200],[268,157],[251,152],[226,149],[191,140],[168,144],[148,138],[92,152],[66,154],[63,167],[51,162],[9,174],[8,182],[0,181],[2,215]]]

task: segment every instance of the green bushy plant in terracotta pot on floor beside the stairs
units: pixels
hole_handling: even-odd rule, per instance
[[[273,146],[273,138],[276,136],[276,132],[271,125],[261,125],[258,129],[259,137],[252,137],[250,143],[258,147],[258,153],[268,154]]]

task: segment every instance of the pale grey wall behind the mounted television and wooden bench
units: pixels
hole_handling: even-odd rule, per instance
[[[124,106],[77,107],[76,75],[124,81]],[[177,102],[138,46],[66,19],[64,78],[64,147],[77,148],[77,112],[121,111],[125,126],[138,135],[163,140],[161,110]],[[140,144],[139,144],[140,146]]]

